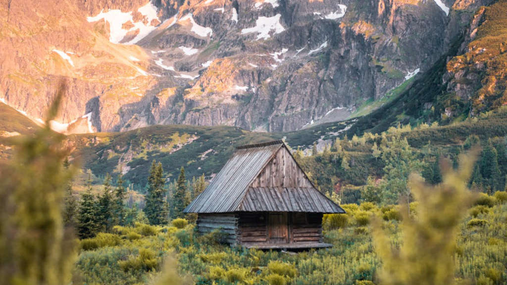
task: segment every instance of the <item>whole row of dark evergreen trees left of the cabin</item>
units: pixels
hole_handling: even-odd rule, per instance
[[[67,160],[64,165],[69,167]],[[204,175],[187,180],[184,167],[180,169],[178,179],[166,185],[162,163],[154,160],[144,195],[144,207],[140,209],[136,204],[127,206],[123,175],[118,175],[116,186],[111,180],[111,175],[106,174],[102,190],[95,195],[89,176],[87,189],[79,200],[73,194],[71,183],[67,184],[63,208],[65,227],[76,229],[80,238],[91,238],[99,232],[111,232],[116,225],[129,226],[136,222],[166,225],[170,218],[184,217],[192,220],[195,217],[185,215],[183,210],[206,187]]]

